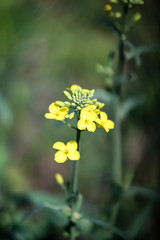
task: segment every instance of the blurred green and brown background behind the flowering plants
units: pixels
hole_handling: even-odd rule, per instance
[[[50,103],[66,100],[63,90],[72,84],[88,89],[105,87],[96,64],[105,64],[109,51],[117,50],[117,36],[102,21],[105,3],[103,0],[0,1],[2,240],[64,239],[60,233],[63,219],[55,214],[39,213],[21,226],[16,221],[32,204],[47,198],[60,202],[63,198],[54,175],[60,172],[69,181],[72,163],[55,163],[52,144],[57,140],[74,140],[75,133],[61,123],[45,119],[44,114]],[[137,7],[142,19],[128,36],[135,46],[159,43],[159,7],[158,0],[145,0],[143,7]],[[133,213],[147,204],[150,207],[144,211],[146,221],[138,230],[137,239],[155,240],[159,239],[160,218],[159,52],[147,53],[141,60],[140,67],[134,61],[128,65],[137,75],[137,80],[128,86],[129,92],[144,100],[123,122],[123,171],[134,169],[133,185],[151,192],[147,197],[136,195],[125,200],[116,224],[125,228],[132,222]],[[111,109],[106,106],[105,111],[109,111],[111,118]],[[112,133],[107,139],[103,130],[83,134],[82,138],[79,189],[88,211],[105,215],[113,200],[109,187]],[[32,204],[26,207],[28,199]],[[95,235],[97,238],[82,239],[101,239],[102,233],[97,234],[100,234]]]

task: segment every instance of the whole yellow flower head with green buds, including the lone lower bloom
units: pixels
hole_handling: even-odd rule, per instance
[[[56,101],[49,106],[49,113],[45,114],[47,119],[55,119],[67,124],[66,119],[77,118],[77,126],[70,127],[79,130],[88,130],[94,132],[96,128],[104,128],[106,132],[114,128],[113,121],[108,119],[105,112],[101,111],[104,103],[93,98],[94,90],[82,89],[78,85],[72,85],[64,91],[64,94],[69,101]],[[67,144],[56,142],[53,148],[58,150],[54,160],[58,163],[63,163],[68,159],[74,161],[79,160],[80,153],[78,152],[77,142],[70,141]]]

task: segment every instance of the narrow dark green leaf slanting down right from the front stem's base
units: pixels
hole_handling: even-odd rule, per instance
[[[84,219],[89,220],[90,222],[94,223],[95,225],[98,225],[100,227],[106,228],[109,231],[117,234],[118,236],[120,236],[121,238],[125,239],[125,240],[132,240],[133,238],[126,234],[125,232],[121,231],[120,229],[118,229],[117,227],[113,226],[111,223],[106,222],[106,221],[102,221],[99,219],[95,219],[92,217],[84,217]]]

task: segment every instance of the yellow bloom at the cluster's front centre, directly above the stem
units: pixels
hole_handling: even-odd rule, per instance
[[[88,130],[94,132],[96,130],[96,124],[93,122],[97,118],[99,110],[94,105],[87,106],[82,109],[80,114],[80,120],[78,121],[77,127],[79,130]]]

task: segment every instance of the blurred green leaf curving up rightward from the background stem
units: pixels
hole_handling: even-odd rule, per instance
[[[120,109],[118,112],[119,119],[123,120],[133,108],[135,108],[137,105],[141,103],[142,103],[142,98],[140,97],[132,97],[127,99],[120,106]]]

